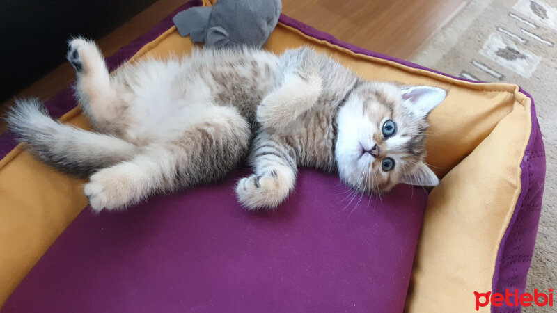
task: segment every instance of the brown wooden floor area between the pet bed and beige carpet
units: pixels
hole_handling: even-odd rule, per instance
[[[283,13],[353,45],[407,59],[463,0],[283,0]]]

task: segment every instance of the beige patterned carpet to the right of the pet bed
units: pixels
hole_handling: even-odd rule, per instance
[[[516,83],[533,95],[547,177],[526,289],[557,288],[557,0],[468,1],[411,61],[467,79]]]

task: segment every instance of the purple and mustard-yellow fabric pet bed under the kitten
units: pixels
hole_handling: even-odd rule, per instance
[[[176,12],[199,5],[210,1]],[[427,139],[441,184],[360,198],[336,175],[303,169],[276,212],[249,213],[234,198],[248,172],[240,168],[217,184],[95,215],[83,210],[83,181],[2,134],[3,312],[470,312],[474,291],[523,292],[545,174],[531,96],[354,47],[285,15],[265,49],[300,45],[366,79],[449,90]],[[191,47],[168,17],[107,64]],[[52,115],[88,127],[75,106],[70,88],[47,102]],[[488,310],[519,308],[480,307]]]

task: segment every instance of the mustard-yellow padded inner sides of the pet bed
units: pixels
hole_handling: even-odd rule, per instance
[[[469,83],[356,54],[284,24],[265,49],[281,53],[300,45],[329,54],[366,79],[449,90],[430,115],[427,163],[442,179],[430,195],[407,309],[471,311],[473,291],[492,289],[499,243],[521,192],[531,100],[517,86]],[[191,47],[171,27],[134,59],[188,54]],[[88,127],[77,108],[63,120]],[[39,163],[20,146],[0,161],[0,304],[86,206],[83,183]]]

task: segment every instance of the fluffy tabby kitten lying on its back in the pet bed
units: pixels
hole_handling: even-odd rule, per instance
[[[213,182],[248,154],[254,174],[236,186],[248,209],[283,202],[297,166],[336,170],[362,193],[439,182],[424,163],[439,88],[366,81],[308,48],[194,49],[110,75],[97,46],[78,38],[68,61],[95,131],[52,120],[36,99],[16,101],[8,127],[41,161],[89,177],[96,211]]]

